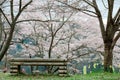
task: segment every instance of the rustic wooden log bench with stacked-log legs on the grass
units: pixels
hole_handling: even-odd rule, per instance
[[[12,58],[10,61],[11,75],[21,73],[21,66],[58,66],[59,76],[67,76],[67,60],[40,58]]]

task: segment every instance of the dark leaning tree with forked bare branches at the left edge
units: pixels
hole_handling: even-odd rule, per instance
[[[14,0],[10,0],[9,2],[10,2],[10,7],[9,7],[10,8],[10,16],[9,17],[11,17],[11,18],[8,18],[6,16],[5,12],[3,11],[3,9],[0,8],[0,13],[2,14],[2,16],[4,16],[5,20],[8,23],[8,26],[10,28],[9,35],[7,35],[5,41],[3,42],[1,50],[0,50],[0,61],[2,60],[4,55],[6,54],[8,48],[10,46],[10,43],[11,43],[11,40],[13,37],[13,33],[14,33],[14,29],[15,29],[15,26],[17,24],[17,20],[18,20],[19,16],[23,12],[23,10],[32,2],[32,0],[28,1],[26,4],[22,4],[22,0],[19,0],[17,12],[15,12],[15,10],[14,10]]]

